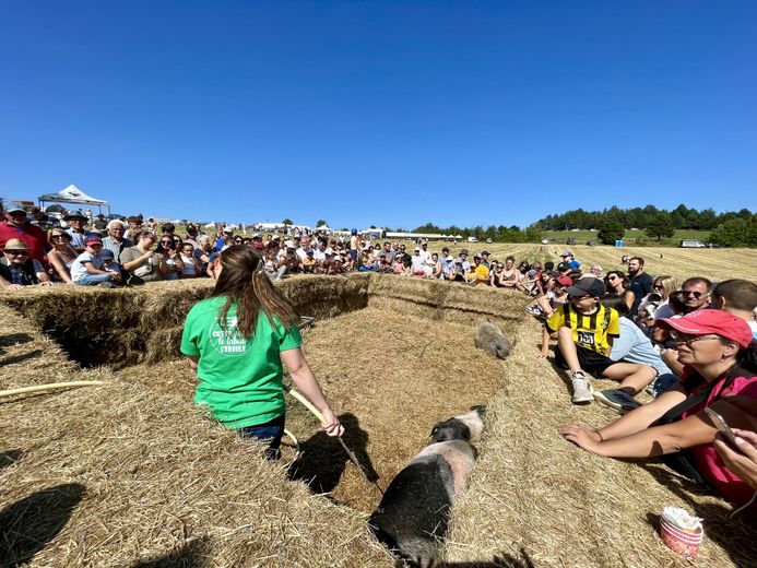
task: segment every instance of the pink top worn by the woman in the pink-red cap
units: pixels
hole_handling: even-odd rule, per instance
[[[686,370],[690,371],[690,369]],[[685,383],[689,376],[690,372],[685,371],[684,376],[682,377],[682,382]],[[757,377],[736,377],[728,388],[723,389],[722,384],[725,382],[725,380],[726,379],[720,379],[708,394],[705,403],[685,412],[682,415],[682,419],[700,412],[706,406],[712,405],[712,403],[714,403],[717,400],[723,399],[725,395],[741,394],[743,397],[749,397],[750,399],[757,400]],[[694,388],[689,395],[696,394],[697,391],[706,387],[707,384],[702,384]],[[755,490],[725,468],[725,464],[720,459],[720,455],[718,455],[718,452],[711,443],[695,446],[694,448],[690,448],[689,451],[691,453],[691,459],[694,460],[694,463],[699,473],[701,473],[702,477],[705,477],[708,483],[715,487],[730,502],[735,506],[741,506],[752,499]]]

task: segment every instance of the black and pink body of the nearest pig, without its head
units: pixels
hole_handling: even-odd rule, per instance
[[[465,488],[476,457],[465,440],[426,446],[392,480],[370,516],[376,537],[415,566],[434,566],[450,509]]]

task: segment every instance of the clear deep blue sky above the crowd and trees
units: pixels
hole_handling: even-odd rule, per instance
[[[757,210],[757,2],[0,0],[0,196],[520,225]]]

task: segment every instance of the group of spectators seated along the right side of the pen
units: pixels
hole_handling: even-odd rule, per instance
[[[558,271],[527,307],[544,326],[539,357],[556,340],[554,363],[570,372],[571,401],[623,415],[560,434],[600,455],[661,457],[734,504],[734,513],[757,517],[757,284],[691,276],[678,286],[648,274],[642,258],[627,267],[604,277],[599,267]],[[594,391],[591,377],[618,386]],[[636,399],[642,390],[651,402]],[[735,442],[719,422],[734,428]]]

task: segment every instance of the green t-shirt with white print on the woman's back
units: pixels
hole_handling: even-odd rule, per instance
[[[256,426],[284,414],[283,368],[280,352],[299,347],[299,329],[286,330],[274,317],[271,326],[263,311],[255,334],[236,331],[236,303],[226,313],[227,331],[218,324],[226,298],[196,304],[184,324],[181,353],[199,357],[197,404],[208,405],[215,419],[229,428]]]

